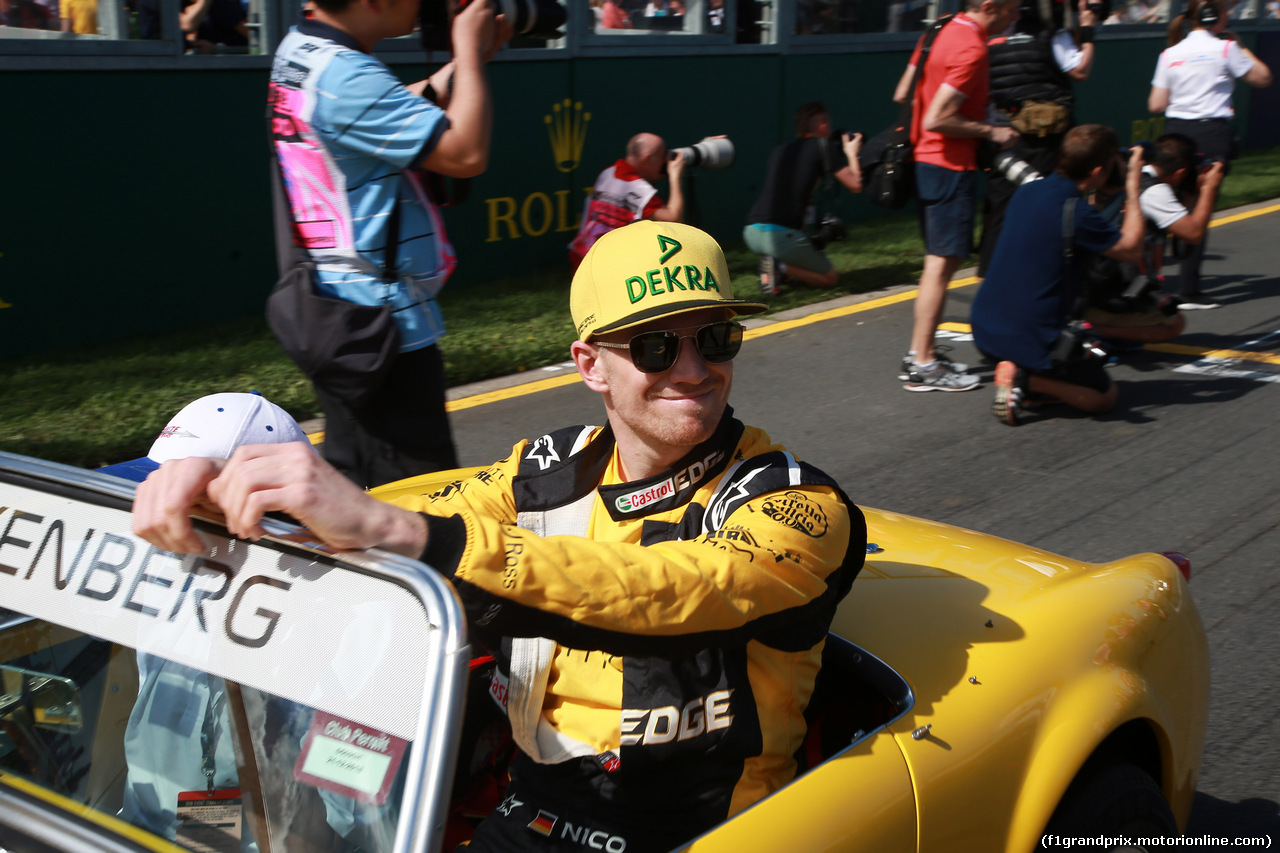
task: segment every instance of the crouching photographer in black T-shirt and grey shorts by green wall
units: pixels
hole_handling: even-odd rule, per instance
[[[833,215],[805,233],[819,184],[840,182],[850,192],[863,191],[858,152],[861,133],[833,134],[831,117],[819,101],[801,104],[795,114],[796,137],[773,149],[764,186],[742,229],[746,247],[760,255],[760,292],[777,296],[783,279],[813,287],[835,287],[840,274],[823,254],[828,242],[845,238],[845,224]]]

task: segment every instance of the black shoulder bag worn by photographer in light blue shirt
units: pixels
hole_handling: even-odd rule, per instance
[[[273,156],[273,160],[275,158]],[[381,387],[399,352],[399,327],[389,305],[357,305],[316,292],[316,265],[293,238],[280,164],[271,170],[280,280],[266,300],[266,324],[280,347],[319,388],[360,409]],[[387,222],[383,280],[398,279],[401,202]]]

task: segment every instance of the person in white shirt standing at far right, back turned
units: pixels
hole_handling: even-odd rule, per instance
[[[1184,28],[1189,27],[1184,37]],[[1253,87],[1271,85],[1271,69],[1226,32],[1226,9],[1219,0],[1190,0],[1187,13],[1169,26],[1169,47],[1156,61],[1147,106],[1165,114],[1165,132],[1181,133],[1206,158],[1224,165],[1235,156],[1231,138],[1231,92],[1235,81]],[[1216,309],[1219,301],[1201,292],[1204,240],[1183,257],[1178,307]]]

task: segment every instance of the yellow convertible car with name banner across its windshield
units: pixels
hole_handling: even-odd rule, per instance
[[[206,553],[169,555],[129,533],[132,492],[0,453],[0,848],[452,850],[508,745],[448,583],[283,521],[248,544],[201,520]],[[800,775],[685,849],[1140,849],[1185,827],[1208,652],[1183,557],[865,514]]]

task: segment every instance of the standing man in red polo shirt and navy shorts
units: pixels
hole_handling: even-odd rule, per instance
[[[911,143],[924,272],[915,296],[911,345],[902,359],[908,391],[972,391],[978,378],[968,368],[938,357],[933,336],[942,319],[947,283],[973,251],[978,143],[991,140],[1009,147],[1018,138],[1011,127],[987,122],[987,37],[1018,19],[1018,0],[969,0],[965,12],[938,32],[915,86]],[[893,100],[902,102],[920,56],[899,81]]]

